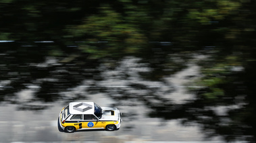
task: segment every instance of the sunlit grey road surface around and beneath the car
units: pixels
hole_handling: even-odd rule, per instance
[[[185,78],[186,76],[197,74],[197,69],[198,67],[195,65],[189,66],[180,73],[169,77],[168,80],[176,87],[176,92],[165,95],[165,98],[173,99],[179,103],[192,98],[193,95],[186,93],[182,85],[188,80]],[[111,82],[115,83],[115,81]],[[109,83],[109,81],[105,83]],[[86,85],[73,91],[84,91],[81,88],[86,88]],[[32,93],[31,90],[22,91],[14,101],[29,105],[26,101],[32,97],[30,96]],[[70,94],[72,91],[66,93],[66,97]],[[101,106],[114,104],[122,111],[124,116],[120,130],[114,132],[104,130],[81,131],[71,134],[59,132],[57,118],[59,111],[67,105],[64,101],[43,103],[47,108],[39,111],[22,110],[20,104],[10,104],[3,101],[0,103],[0,142],[222,142],[218,137],[205,138],[197,124],[182,126],[178,120],[147,117],[150,109],[147,109],[143,103],[136,101],[136,99],[122,104],[116,103],[104,93],[85,94],[88,101],[94,101]],[[76,99],[75,101],[80,100]]]

